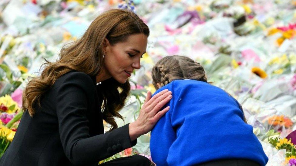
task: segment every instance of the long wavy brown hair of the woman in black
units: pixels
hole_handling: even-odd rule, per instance
[[[96,76],[102,71],[103,41],[108,39],[111,45],[124,42],[132,34],[149,36],[148,26],[132,11],[112,9],[99,15],[82,37],[64,46],[60,59],[42,64],[40,76],[29,77],[29,83],[23,92],[23,110],[30,116],[35,114],[35,106],[41,106],[40,98],[62,75],[72,71],[81,71]],[[102,81],[103,119],[111,125],[110,131],[117,128],[114,117],[123,119],[118,111],[124,106],[130,93],[130,83],[119,83],[110,78]],[[36,105],[37,104],[37,105]]]

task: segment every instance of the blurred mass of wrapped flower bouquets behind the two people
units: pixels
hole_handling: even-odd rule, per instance
[[[295,0],[1,0],[0,156],[22,116],[27,77],[37,76],[45,59],[55,61],[63,45],[111,8],[132,10],[150,27],[147,53],[130,79],[131,97],[119,126],[133,122],[147,91],[155,91],[153,64],[184,55],[200,62],[208,80],[242,104],[269,157],[267,165],[295,165]],[[149,133],[142,135],[132,149],[105,161],[149,157],[149,141]]]

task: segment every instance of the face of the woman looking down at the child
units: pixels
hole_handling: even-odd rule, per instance
[[[103,73],[105,78],[113,77],[119,83],[125,83],[134,69],[140,69],[140,58],[146,52],[147,36],[144,34],[130,35],[125,42],[104,45],[105,58]],[[102,78],[100,78],[102,79]]]

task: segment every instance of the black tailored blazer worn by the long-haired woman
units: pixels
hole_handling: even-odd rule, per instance
[[[33,118],[24,112],[0,165],[97,165],[136,145],[128,124],[104,134],[98,86],[95,77],[78,71],[56,80]]]

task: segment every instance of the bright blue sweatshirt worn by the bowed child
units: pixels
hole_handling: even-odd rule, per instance
[[[239,103],[224,90],[196,80],[174,80],[170,110],[151,131],[153,162],[195,165],[219,159],[250,159],[266,165],[268,158],[244,122]],[[153,95],[154,95],[153,94]]]

